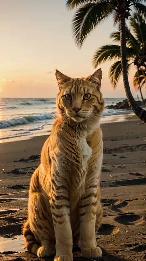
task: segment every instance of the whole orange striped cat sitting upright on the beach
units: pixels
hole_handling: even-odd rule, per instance
[[[55,261],[72,261],[73,246],[79,246],[85,258],[102,256],[96,244],[102,221],[101,78],[100,69],[75,79],[56,71],[59,116],[30,181],[23,227],[26,249],[38,257],[56,253]]]

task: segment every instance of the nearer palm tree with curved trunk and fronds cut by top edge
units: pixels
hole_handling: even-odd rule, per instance
[[[83,42],[97,24],[114,16],[115,23],[120,22],[120,53],[124,81],[124,88],[128,104],[135,114],[146,122],[146,111],[136,104],[132,97],[128,82],[126,60],[126,24],[125,19],[130,16],[131,7],[139,14],[146,16],[146,0],[65,0],[67,7],[79,7],[73,16],[72,32],[76,45],[80,48]]]

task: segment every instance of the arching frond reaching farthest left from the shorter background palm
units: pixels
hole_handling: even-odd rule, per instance
[[[135,50],[132,48],[126,48],[127,58],[134,57]],[[92,65],[94,68],[98,67],[99,64],[111,61],[112,59],[120,59],[120,46],[119,45],[103,45],[95,51],[92,58]]]

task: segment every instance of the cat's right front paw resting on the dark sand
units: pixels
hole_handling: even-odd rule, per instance
[[[87,259],[97,258],[102,256],[102,251],[98,246],[95,248],[82,248],[81,252],[82,252],[82,256]]]

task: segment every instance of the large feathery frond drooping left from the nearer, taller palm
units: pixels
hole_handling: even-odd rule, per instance
[[[88,3],[76,10],[71,28],[75,43],[79,48],[95,26],[108,17],[111,10],[106,2]]]

